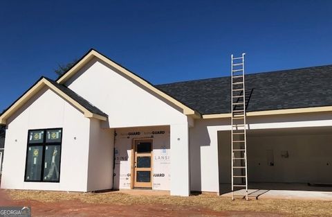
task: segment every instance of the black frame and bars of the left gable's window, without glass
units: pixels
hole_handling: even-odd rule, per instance
[[[46,132],[48,130],[61,130],[61,139],[59,142],[46,142]],[[44,138],[42,143],[32,143],[29,144],[29,137],[30,137],[30,132],[31,131],[43,131],[44,132]],[[62,137],[64,136],[64,130],[63,128],[46,128],[46,129],[33,129],[33,130],[28,130],[28,139],[27,139],[27,146],[26,146],[26,168],[24,172],[24,182],[55,182],[59,183],[60,182],[60,175],[61,175],[61,155],[62,155]],[[26,179],[26,172],[28,168],[28,150],[30,146],[41,146],[42,147],[42,168],[41,168],[41,174],[40,174],[40,180],[27,180]],[[60,146],[60,153],[59,153],[59,180],[53,181],[53,180],[44,180],[44,166],[45,166],[45,149],[46,146]]]

